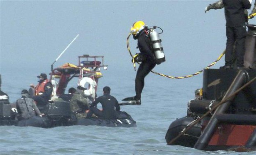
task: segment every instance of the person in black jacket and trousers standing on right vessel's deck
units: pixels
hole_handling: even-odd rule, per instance
[[[206,11],[215,9],[215,7],[224,7],[226,18],[226,54],[225,65],[221,68],[230,69],[233,61],[232,53],[235,45],[235,58],[237,58],[237,69],[244,67],[245,23],[248,18],[245,10],[250,9],[252,0],[220,0],[206,7]]]

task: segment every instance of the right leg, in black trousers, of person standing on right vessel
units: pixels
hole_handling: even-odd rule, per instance
[[[235,27],[237,67],[244,67],[246,28]]]

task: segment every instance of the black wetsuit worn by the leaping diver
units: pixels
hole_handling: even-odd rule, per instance
[[[156,58],[152,52],[150,38],[145,31],[142,31],[136,39],[138,39],[138,48],[143,57],[135,79],[135,99],[139,100],[144,87],[144,78],[156,66]]]

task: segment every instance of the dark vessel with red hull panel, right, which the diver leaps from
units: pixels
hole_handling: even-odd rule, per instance
[[[202,96],[173,121],[168,145],[198,150],[250,151],[256,146],[256,25],[247,25],[245,68],[204,69]]]

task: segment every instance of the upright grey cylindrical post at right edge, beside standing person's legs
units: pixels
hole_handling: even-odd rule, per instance
[[[248,32],[245,40],[244,67],[253,68],[255,62],[256,25],[247,25]]]

